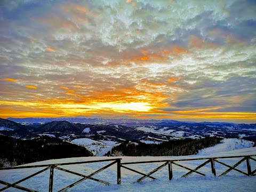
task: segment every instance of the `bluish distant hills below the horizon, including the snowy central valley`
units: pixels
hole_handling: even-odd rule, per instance
[[[81,117],[9,119],[0,118],[1,135],[22,140],[42,137],[64,140],[83,146],[97,156],[108,153],[122,142],[134,140],[158,144],[171,140],[216,136],[256,141],[256,124]]]

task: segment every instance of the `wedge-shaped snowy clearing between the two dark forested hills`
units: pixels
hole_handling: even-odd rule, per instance
[[[110,151],[114,146],[121,144],[114,141],[95,141],[89,138],[74,139],[71,142],[85,147],[86,149],[90,150],[95,156],[103,156],[108,153],[108,151]]]

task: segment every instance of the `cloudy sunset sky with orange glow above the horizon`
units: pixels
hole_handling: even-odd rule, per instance
[[[0,2],[0,117],[256,123],[255,1]]]

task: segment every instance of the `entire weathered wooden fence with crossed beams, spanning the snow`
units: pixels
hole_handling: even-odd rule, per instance
[[[105,185],[109,185],[110,183],[107,182],[107,181],[103,181],[103,180],[100,180],[100,179],[96,179],[96,178],[93,178],[93,175],[107,169],[108,167],[110,167],[111,165],[114,165],[114,164],[117,164],[117,185],[121,185],[121,168],[123,169],[127,169],[127,170],[130,170],[132,172],[135,172],[135,173],[138,173],[138,174],[141,174],[142,177],[139,178],[137,181],[135,182],[140,182],[146,178],[151,178],[151,179],[156,179],[155,177],[151,176],[153,173],[157,172],[158,170],[161,170],[163,167],[165,166],[168,166],[168,177],[169,177],[169,180],[172,180],[173,178],[173,168],[172,166],[173,165],[176,165],[176,166],[179,166],[179,167],[182,167],[183,169],[186,169],[188,170],[189,172],[187,172],[186,174],[183,174],[181,177],[188,177],[188,175],[190,175],[191,173],[197,173],[199,175],[203,175],[205,176],[204,173],[201,173],[199,172],[198,170],[201,169],[203,166],[205,166],[206,164],[211,164],[211,172],[212,174],[216,177],[217,176],[217,173],[216,173],[216,170],[215,170],[215,162],[216,163],[219,163],[219,164],[222,164],[226,167],[228,167],[228,169],[224,172],[222,172],[221,174],[218,175],[218,177],[221,177],[222,175],[226,175],[227,173],[229,173],[231,170],[235,170],[239,173],[242,173],[244,175],[247,175],[247,176],[255,176],[255,172],[256,172],[256,169],[255,170],[252,170],[251,169],[251,161],[255,161],[256,162],[256,159],[253,158],[254,156],[256,155],[246,155],[246,156],[229,156],[229,157],[213,157],[213,158],[186,158],[186,159],[167,159],[167,160],[159,160],[159,161],[138,161],[138,162],[124,162],[124,163],[121,163],[121,159],[122,158],[113,158],[113,159],[102,159],[102,160],[97,160],[97,161],[84,161],[84,162],[73,162],[73,163],[59,163],[59,164],[47,164],[47,165],[31,165],[31,166],[16,166],[16,167],[7,167],[7,168],[0,168],[0,170],[14,170],[14,169],[33,169],[33,168],[36,168],[36,167],[45,167],[43,170],[41,171],[38,171],[36,173],[33,173],[31,175],[29,175],[28,177],[26,178],[23,178],[19,181],[16,181],[14,183],[8,183],[8,182],[5,182],[5,181],[2,181],[0,180],[0,183],[2,183],[3,185],[6,185],[6,187],[0,189],[0,191],[3,191],[5,189],[8,189],[8,188],[11,188],[11,187],[14,187],[14,188],[18,188],[18,189],[21,189],[23,191],[36,191],[36,190],[32,190],[32,189],[28,189],[28,188],[25,188],[25,187],[21,187],[21,186],[18,186],[19,183],[27,180],[27,179],[30,179],[32,177],[34,177],[35,175],[39,174],[39,173],[42,173],[46,170],[49,170],[50,169],[50,176],[49,176],[49,192],[52,192],[53,191],[53,172],[54,172],[54,169],[58,169],[58,170],[61,170],[61,171],[65,171],[67,173],[71,173],[71,174],[74,174],[74,175],[78,175],[79,177],[81,177],[81,179],[79,179],[78,181],[72,183],[71,185],[67,186],[67,187],[64,187],[62,188],[61,190],[59,190],[58,192],[60,191],[66,191],[67,189],[71,188],[71,187],[74,187],[75,185],[77,185],[78,183],[81,183],[82,181],[86,180],[86,179],[90,179],[90,180],[93,180],[93,181],[97,181],[97,182],[101,182],[101,183],[104,183]],[[236,164],[234,164],[233,166],[231,165],[228,165],[226,163],[223,163],[221,161],[219,161],[219,159],[225,159],[225,158],[242,158],[241,160],[239,160]],[[184,165],[181,165],[179,164],[179,162],[183,162],[183,161],[199,161],[199,160],[205,160],[204,163],[202,163],[201,165],[197,166],[196,168],[194,169],[190,169],[189,167],[187,166],[184,166]],[[108,165],[106,166],[103,166],[101,169],[97,170],[97,171],[94,171],[93,173],[89,174],[89,175],[84,175],[84,174],[81,174],[81,173],[77,173],[77,172],[74,172],[74,171],[70,171],[70,170],[67,170],[67,169],[63,169],[62,167],[59,167],[61,165],[74,165],[74,164],[87,164],[87,163],[97,163],[97,162],[108,162],[108,161],[112,161],[111,163],[109,163]],[[238,170],[236,169],[236,167],[241,164],[242,162],[246,161],[246,167],[247,167],[247,173],[246,172],[243,172],[241,170]],[[162,165],[158,166],[156,169],[150,171],[149,173],[142,173],[140,171],[137,171],[137,170],[134,170],[134,169],[131,169],[130,167],[128,167],[129,165],[132,165],[132,164],[145,164],[145,163],[163,163]],[[128,166],[127,166],[128,165]],[[106,175],[107,177],[108,175]]]

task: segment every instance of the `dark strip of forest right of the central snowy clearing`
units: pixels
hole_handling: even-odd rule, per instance
[[[146,144],[140,141],[126,141],[114,147],[106,156],[182,156],[194,155],[198,150],[214,146],[222,138],[171,140],[160,144]]]

